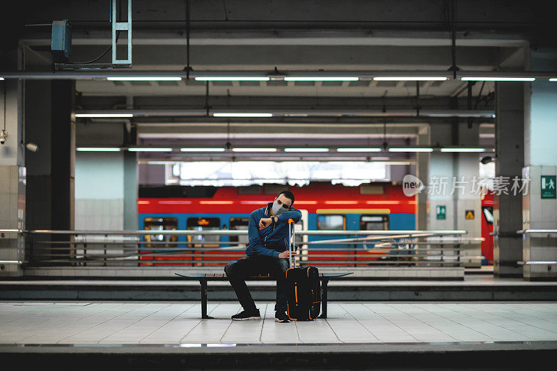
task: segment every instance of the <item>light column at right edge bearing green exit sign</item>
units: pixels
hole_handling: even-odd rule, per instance
[[[531,69],[552,71],[557,65],[557,49],[531,52]],[[522,229],[557,229],[557,199],[551,195],[550,180],[557,175],[557,82],[538,79],[526,84],[524,110],[524,169],[530,189],[522,197]],[[548,177],[549,176],[549,177]],[[544,190],[542,191],[542,177]],[[553,184],[554,185],[554,184]],[[554,193],[553,193],[554,195]],[[549,198],[548,198],[549,197]],[[557,279],[557,233],[524,236],[523,259],[548,264],[525,265],[525,280]]]

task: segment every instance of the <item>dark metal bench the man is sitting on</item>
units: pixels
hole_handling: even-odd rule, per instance
[[[329,280],[339,277],[348,276],[352,272],[345,273],[320,273],[319,279],[321,281],[321,315],[320,318],[327,318],[327,284]],[[228,281],[226,274],[223,273],[198,273],[198,274],[179,274],[176,276],[188,278],[191,280],[198,280],[201,285],[201,318],[210,319],[212,317],[207,315],[207,281]],[[274,281],[274,278],[269,275],[251,276],[249,280],[269,280]],[[231,288],[231,287],[230,287]]]

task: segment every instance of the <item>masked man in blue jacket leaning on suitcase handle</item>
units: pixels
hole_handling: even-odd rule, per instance
[[[242,312],[232,319],[261,319],[256,303],[253,302],[246,278],[256,274],[270,274],[276,279],[275,322],[289,322],[286,315],[286,280],[288,262],[288,219],[297,223],[301,212],[292,208],[294,194],[282,191],[273,203],[249,214],[246,258],[229,262],[224,271],[242,305]],[[296,255],[296,251],[292,251]]]

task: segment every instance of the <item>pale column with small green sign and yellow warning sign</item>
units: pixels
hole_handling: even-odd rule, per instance
[[[431,142],[436,145],[478,145],[478,140],[477,124],[468,127],[467,123],[455,121],[452,125],[431,126]],[[430,155],[429,229],[466,230],[468,233],[465,237],[481,237],[481,196],[473,189],[473,180],[478,179],[479,171],[477,153],[433,152]],[[445,219],[441,215],[438,218],[438,206],[446,211]],[[469,210],[473,219],[466,219]],[[465,267],[481,266],[480,246],[480,242],[465,244],[461,253]]]

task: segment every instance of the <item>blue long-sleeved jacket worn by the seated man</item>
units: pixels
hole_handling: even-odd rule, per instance
[[[301,212],[292,207],[288,212],[278,215],[278,221],[262,230],[259,229],[259,220],[269,218],[273,203],[253,210],[249,214],[248,237],[246,255],[267,255],[278,258],[278,253],[288,250],[288,219],[297,223],[301,219]]]

